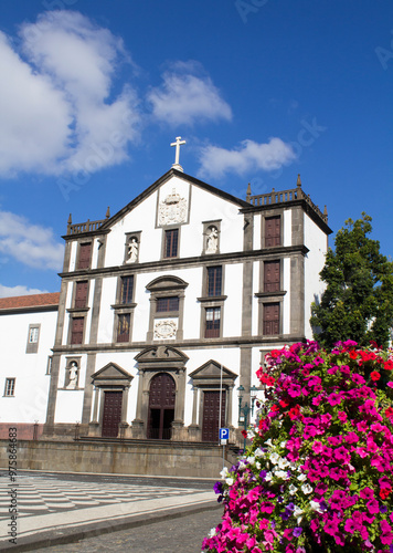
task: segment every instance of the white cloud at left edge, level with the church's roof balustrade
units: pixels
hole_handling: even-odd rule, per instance
[[[64,246],[53,230],[24,217],[0,211],[0,253],[38,269],[61,270]]]

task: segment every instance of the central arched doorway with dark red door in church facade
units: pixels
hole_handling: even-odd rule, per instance
[[[148,438],[170,440],[174,419],[176,384],[168,373],[150,380]]]

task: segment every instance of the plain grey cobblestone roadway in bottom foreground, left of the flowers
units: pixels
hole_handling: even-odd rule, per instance
[[[76,543],[45,547],[44,553],[200,553],[203,538],[220,521],[223,509],[213,509],[178,519],[88,538]],[[36,550],[34,550],[36,551]]]

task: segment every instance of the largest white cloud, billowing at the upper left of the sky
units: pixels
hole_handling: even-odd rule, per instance
[[[17,53],[0,33],[0,174],[76,171],[97,149],[109,154],[89,171],[127,158],[140,114],[129,85],[110,96],[123,42],[72,11],[40,15],[20,38]]]

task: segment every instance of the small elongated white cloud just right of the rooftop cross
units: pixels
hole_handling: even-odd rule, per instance
[[[269,138],[266,144],[246,139],[235,149],[204,146],[200,152],[199,176],[220,178],[226,173],[243,176],[251,170],[270,171],[295,159],[291,146],[280,138]]]

